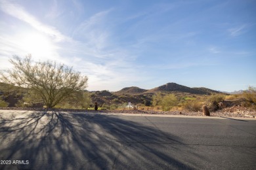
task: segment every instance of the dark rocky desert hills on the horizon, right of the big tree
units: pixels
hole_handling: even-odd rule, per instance
[[[211,95],[213,93],[221,93],[208,88],[189,88],[174,82],[164,84],[151,90],[145,90],[138,87],[127,87],[117,92],[108,92],[106,90],[91,92],[92,100],[97,101],[99,105],[103,103],[107,105],[119,105],[121,103],[131,102],[133,104],[142,103],[150,105],[152,103],[152,96],[156,93],[175,93],[182,97],[183,95]]]

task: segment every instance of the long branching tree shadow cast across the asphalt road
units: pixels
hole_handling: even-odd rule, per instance
[[[196,169],[204,159],[177,136],[100,114],[1,115],[0,143],[1,160],[11,160],[0,169]]]

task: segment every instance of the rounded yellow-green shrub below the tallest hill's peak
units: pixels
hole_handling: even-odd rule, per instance
[[[160,106],[163,111],[169,111],[171,108],[177,106],[179,103],[177,97],[174,94],[165,95],[160,101]]]

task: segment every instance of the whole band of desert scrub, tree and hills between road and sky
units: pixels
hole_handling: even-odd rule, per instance
[[[240,105],[256,110],[256,88],[243,93],[228,94],[207,88],[188,88],[167,83],[152,90],[137,87],[88,92],[87,76],[72,67],[53,61],[33,62],[31,56],[14,56],[13,69],[1,72],[0,107],[46,107],[55,109],[99,110],[187,110],[200,112],[205,105],[211,112]],[[132,103],[129,105],[128,103]]]

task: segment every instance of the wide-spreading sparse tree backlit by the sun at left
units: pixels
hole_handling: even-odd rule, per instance
[[[87,87],[87,76],[72,67],[53,61],[33,62],[31,55],[10,59],[13,68],[1,72],[3,82],[27,88],[39,96],[47,108],[53,108],[65,99],[72,98]]]

